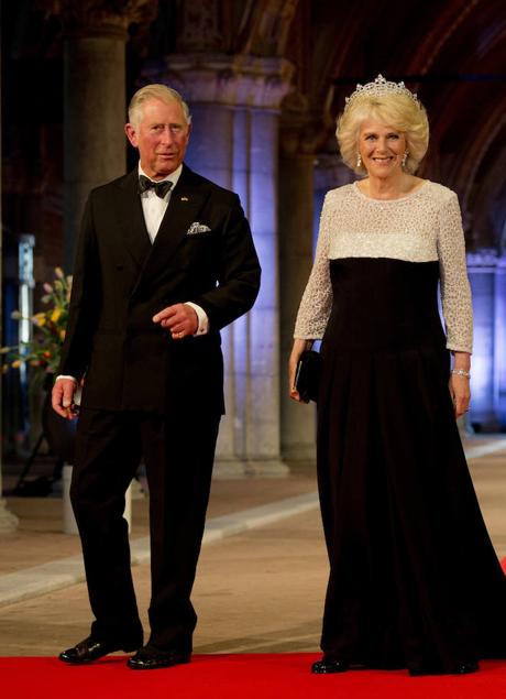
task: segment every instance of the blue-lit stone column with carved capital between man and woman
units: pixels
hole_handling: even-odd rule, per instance
[[[189,102],[187,162],[241,197],[262,264],[253,309],[223,331],[224,417],[216,474],[280,476],[277,234],[278,111],[292,65],[246,55],[172,54],[146,65],[143,83],[174,87]]]

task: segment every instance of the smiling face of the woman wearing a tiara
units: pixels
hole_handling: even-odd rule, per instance
[[[392,177],[403,171],[406,136],[382,121],[367,119],[359,133],[359,153],[370,177]]]

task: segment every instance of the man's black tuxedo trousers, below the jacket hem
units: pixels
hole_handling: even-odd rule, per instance
[[[220,415],[167,416],[82,408],[70,498],[96,621],[94,637],[142,645],[124,494],[144,457],[150,488],[150,644],[191,649],[190,602]]]

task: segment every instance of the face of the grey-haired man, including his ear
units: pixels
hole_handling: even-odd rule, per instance
[[[180,105],[150,99],[143,105],[139,127],[125,125],[130,143],[139,149],[141,167],[152,179],[163,179],[179,167],[189,141]]]

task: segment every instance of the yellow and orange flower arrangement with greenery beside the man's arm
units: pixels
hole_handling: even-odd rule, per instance
[[[46,306],[45,310],[29,318],[22,316],[19,310],[12,313],[11,317],[15,320],[30,320],[34,326],[34,332],[30,342],[0,348],[0,353],[4,357],[3,373],[9,368],[19,369],[22,364],[33,367],[38,379],[56,373],[65,340],[72,278],[65,276],[61,267],[56,267],[53,284],[45,283],[43,286],[45,294],[41,302]]]

